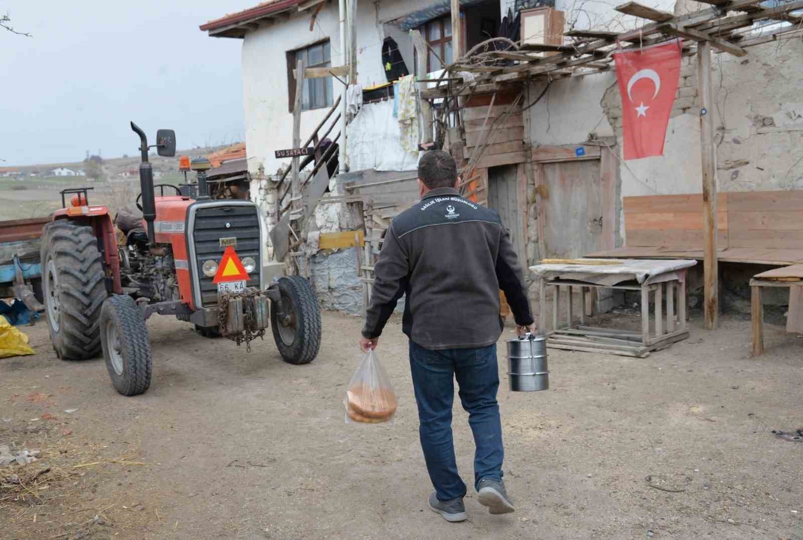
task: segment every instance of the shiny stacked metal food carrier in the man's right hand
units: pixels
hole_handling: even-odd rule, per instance
[[[528,333],[507,340],[507,380],[513,392],[548,390],[546,337]]]

